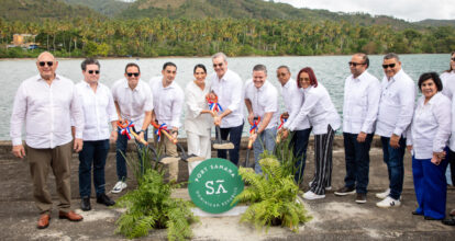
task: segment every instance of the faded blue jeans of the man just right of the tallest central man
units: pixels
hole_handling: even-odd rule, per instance
[[[277,127],[265,129],[262,134],[257,135],[257,138],[253,144],[254,171],[258,174],[263,173],[263,169],[259,164],[260,154],[264,152],[264,148],[269,152],[274,151]]]

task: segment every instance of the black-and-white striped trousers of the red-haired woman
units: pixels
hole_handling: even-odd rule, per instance
[[[315,173],[311,183],[311,192],[323,195],[325,187],[332,185],[332,147],[335,130],[328,126],[328,133],[314,135]]]

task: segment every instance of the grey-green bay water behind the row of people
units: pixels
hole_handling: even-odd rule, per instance
[[[382,56],[369,56],[369,72],[379,80],[384,76],[381,68]],[[442,72],[448,68],[450,55],[401,55],[403,70],[417,82],[419,76],[428,71]],[[281,65],[289,66],[292,78],[296,79],[297,72],[303,67],[312,67],[318,81],[323,83],[329,90],[336,110],[342,115],[343,110],[343,89],[344,80],[351,73],[347,62],[351,56],[311,56],[311,57],[238,57],[229,58],[229,68],[237,72],[243,81],[252,77],[252,69],[257,64],[263,64],[268,68],[268,81],[278,88],[279,83],[276,78],[276,68]],[[57,73],[71,79],[75,82],[82,80],[80,62],[82,59],[60,59],[58,61]],[[160,74],[163,64],[173,61],[177,65],[177,83],[185,88],[188,81],[193,80],[192,69],[197,64],[203,64],[208,68],[208,74],[213,73],[210,57],[204,58],[122,58],[122,59],[102,59],[100,81],[111,87],[113,82],[121,79],[124,73],[124,67],[127,62],[136,62],[141,67],[142,79],[148,80]],[[34,59],[7,59],[0,60],[0,72],[3,77],[0,79],[0,115],[3,122],[0,122],[0,140],[10,139],[10,117],[13,99],[19,84],[37,74]],[[282,101],[281,110],[282,110]],[[247,125],[245,125],[245,129]],[[245,131],[245,130],[244,130]],[[246,135],[246,131],[245,134]],[[185,131],[180,131],[185,136]]]

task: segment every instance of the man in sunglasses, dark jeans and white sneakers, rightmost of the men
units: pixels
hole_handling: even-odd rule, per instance
[[[378,207],[400,206],[403,188],[406,131],[414,112],[415,83],[401,69],[398,55],[384,57],[385,77],[381,82],[381,97],[376,124],[376,134],[382,142],[384,162],[387,164],[390,185],[384,193],[376,194],[382,200]]]

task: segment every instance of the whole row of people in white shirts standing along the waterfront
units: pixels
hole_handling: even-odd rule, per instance
[[[448,160],[455,161],[455,131],[452,122],[455,105],[455,54],[451,69],[441,79],[434,72],[423,73],[418,82],[422,96],[415,104],[414,81],[401,69],[399,56],[384,57],[382,81],[370,74],[368,56],[355,54],[348,62],[351,76],[345,80],[343,123],[328,90],[318,81],[312,68],[302,68],[297,80],[287,66],[276,70],[280,91],[268,81],[267,68],[256,65],[252,79],[245,83],[228,68],[223,53],[212,56],[214,73],[197,65],[195,79],[185,90],[175,82],[177,66],[166,62],[162,76],[148,83],[141,80],[140,66],[125,66],[124,78],[111,89],[99,81],[100,62],[88,58],[81,64],[84,80],[77,84],[56,74],[58,61],[47,51],[36,61],[40,74],[22,82],[11,116],[13,153],[30,163],[34,199],[41,211],[37,228],[48,227],[52,199],[46,180],[52,169],[56,176],[59,217],[71,221],[82,216],[70,210],[69,160],[79,152],[79,193],[81,209],[90,210],[91,172],[97,203],[115,203],[106,195],[104,165],[110,141],[116,146],[118,182],[112,193],[120,193],[126,184],[126,152],[133,127],[137,139],[147,141],[148,127],[163,152],[178,157],[176,141],[181,128],[185,105],[185,130],[188,153],[211,158],[211,129],[233,144],[234,148],[219,149],[218,157],[238,164],[240,144],[245,120],[249,123],[255,157],[255,171],[260,173],[258,160],[267,150],[273,152],[277,135],[290,136],[296,158],[296,182],[302,181],[310,134],[314,135],[315,171],[306,199],[325,197],[332,188],[332,144],[335,131],[343,125],[346,176],[344,186],[335,195],[357,194],[356,203],[366,203],[369,149],[374,135],[380,136],[384,161],[388,168],[389,188],[376,194],[378,207],[400,206],[403,185],[403,156],[412,153],[412,169],[418,208],[413,215],[425,219],[444,219],[446,202],[445,170]],[[206,81],[208,79],[208,81]],[[285,111],[280,113],[281,95]],[[454,96],[453,96],[454,95]],[[244,107],[247,116],[244,118]],[[451,107],[452,106],[452,107]],[[448,111],[451,110],[451,111]],[[280,117],[281,116],[281,117]],[[22,126],[25,125],[25,145]],[[169,135],[162,136],[162,131]],[[170,179],[178,176],[178,164],[169,168]],[[455,163],[452,163],[452,168]],[[455,172],[452,172],[453,176]],[[455,215],[455,214],[454,214]],[[454,225],[453,219],[444,220]]]

